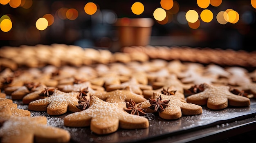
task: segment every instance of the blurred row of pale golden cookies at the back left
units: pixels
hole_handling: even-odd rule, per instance
[[[144,53],[111,53],[108,49],[81,48],[80,46],[66,44],[4,46],[0,48],[0,66],[12,70],[21,66],[36,68],[45,65],[57,67],[63,65],[81,66],[94,63],[144,62],[148,59],[148,56]]]

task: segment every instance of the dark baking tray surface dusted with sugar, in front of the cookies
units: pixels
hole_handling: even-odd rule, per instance
[[[106,135],[97,135],[90,130],[90,127],[71,128],[64,126],[64,117],[71,112],[51,116],[46,112],[31,111],[31,117],[45,116],[47,117],[48,125],[68,130],[71,134],[70,143],[130,143],[153,141],[211,126],[228,126],[229,122],[254,117],[256,116],[256,99],[250,100],[251,105],[249,107],[228,107],[224,110],[210,110],[206,106],[202,106],[202,114],[182,116],[175,120],[161,119],[157,113],[147,113],[144,117],[149,120],[149,128],[135,130],[120,128],[116,132]],[[17,103],[18,108],[28,109],[28,105],[23,105],[22,101],[14,100],[13,103]]]

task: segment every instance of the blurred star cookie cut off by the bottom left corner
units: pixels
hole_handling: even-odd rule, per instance
[[[16,117],[9,107],[0,109],[0,142],[2,143],[67,143],[70,133],[47,125],[47,118]]]

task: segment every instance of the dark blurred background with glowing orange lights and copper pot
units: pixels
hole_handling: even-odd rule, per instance
[[[256,0],[0,0],[0,47],[72,44],[254,51]]]

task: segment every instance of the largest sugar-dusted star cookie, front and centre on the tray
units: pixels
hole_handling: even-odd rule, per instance
[[[138,129],[148,128],[145,117],[129,114],[124,110],[125,102],[109,103],[96,96],[90,98],[90,107],[81,112],[75,112],[64,118],[64,125],[69,127],[86,127],[96,134],[110,134],[118,128]]]

